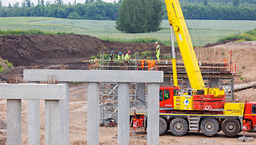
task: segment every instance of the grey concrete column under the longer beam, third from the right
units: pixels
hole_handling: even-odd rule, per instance
[[[89,82],[87,87],[87,144],[99,144],[100,84]]]

